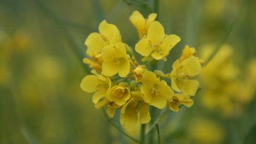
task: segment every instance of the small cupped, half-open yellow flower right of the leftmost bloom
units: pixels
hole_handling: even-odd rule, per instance
[[[128,83],[119,83],[114,85],[107,93],[107,99],[116,105],[124,105],[131,97]]]

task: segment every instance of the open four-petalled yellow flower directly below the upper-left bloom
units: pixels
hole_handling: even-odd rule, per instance
[[[107,45],[102,49],[102,75],[113,76],[118,73],[125,77],[130,72],[130,57],[126,53],[125,44]]]

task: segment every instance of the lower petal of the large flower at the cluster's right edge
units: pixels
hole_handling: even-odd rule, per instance
[[[183,94],[194,96],[198,90],[199,83],[197,80],[181,80],[177,81],[177,86]]]

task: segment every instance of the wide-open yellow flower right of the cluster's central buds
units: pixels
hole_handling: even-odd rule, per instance
[[[145,102],[159,109],[166,107],[167,100],[174,95],[166,81],[160,81],[155,73],[151,71],[145,71],[143,74],[140,90],[144,94]]]

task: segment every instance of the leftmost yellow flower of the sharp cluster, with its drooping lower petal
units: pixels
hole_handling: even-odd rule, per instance
[[[111,87],[111,80],[109,78],[99,75],[95,70],[92,70],[94,75],[87,75],[80,83],[80,87],[85,92],[95,92],[92,97],[92,102],[95,107],[100,109],[107,104],[107,100],[104,99],[107,96],[107,91]]]

